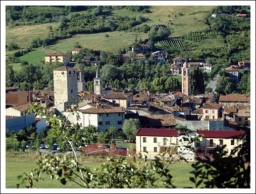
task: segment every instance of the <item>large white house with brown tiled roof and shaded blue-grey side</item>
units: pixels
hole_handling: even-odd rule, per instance
[[[96,102],[95,107],[80,110],[79,116],[75,123],[82,127],[94,125],[99,128],[99,132],[106,133],[111,126],[115,126],[119,132],[125,120],[125,109],[108,104]]]

